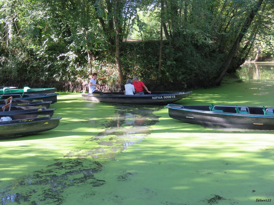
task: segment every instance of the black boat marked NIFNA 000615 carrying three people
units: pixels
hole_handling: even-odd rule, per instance
[[[145,95],[125,95],[123,92],[87,93],[82,98],[87,101],[132,105],[166,105],[190,96],[192,92],[153,92]]]

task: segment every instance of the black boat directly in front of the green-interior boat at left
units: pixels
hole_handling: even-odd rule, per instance
[[[0,101],[5,101],[5,99],[12,97],[13,100],[44,100],[44,101],[52,101],[51,104],[53,104],[57,102],[57,95],[59,95],[59,93],[0,95]]]

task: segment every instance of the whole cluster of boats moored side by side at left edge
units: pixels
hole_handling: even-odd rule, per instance
[[[52,117],[55,88],[0,87],[0,138],[26,136],[51,130],[61,117]]]

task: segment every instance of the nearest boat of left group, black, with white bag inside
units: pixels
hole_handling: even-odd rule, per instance
[[[0,115],[1,117],[10,117],[12,120],[0,121],[0,139],[52,130],[62,119],[51,118],[50,115]]]

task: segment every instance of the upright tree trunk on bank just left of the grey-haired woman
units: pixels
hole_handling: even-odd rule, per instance
[[[115,62],[116,67],[118,71],[118,81],[119,83],[122,83],[124,80],[123,72],[122,72],[122,66],[120,62],[120,22],[118,21],[118,15],[121,14],[120,8],[120,0],[114,0],[114,23],[115,23]]]

